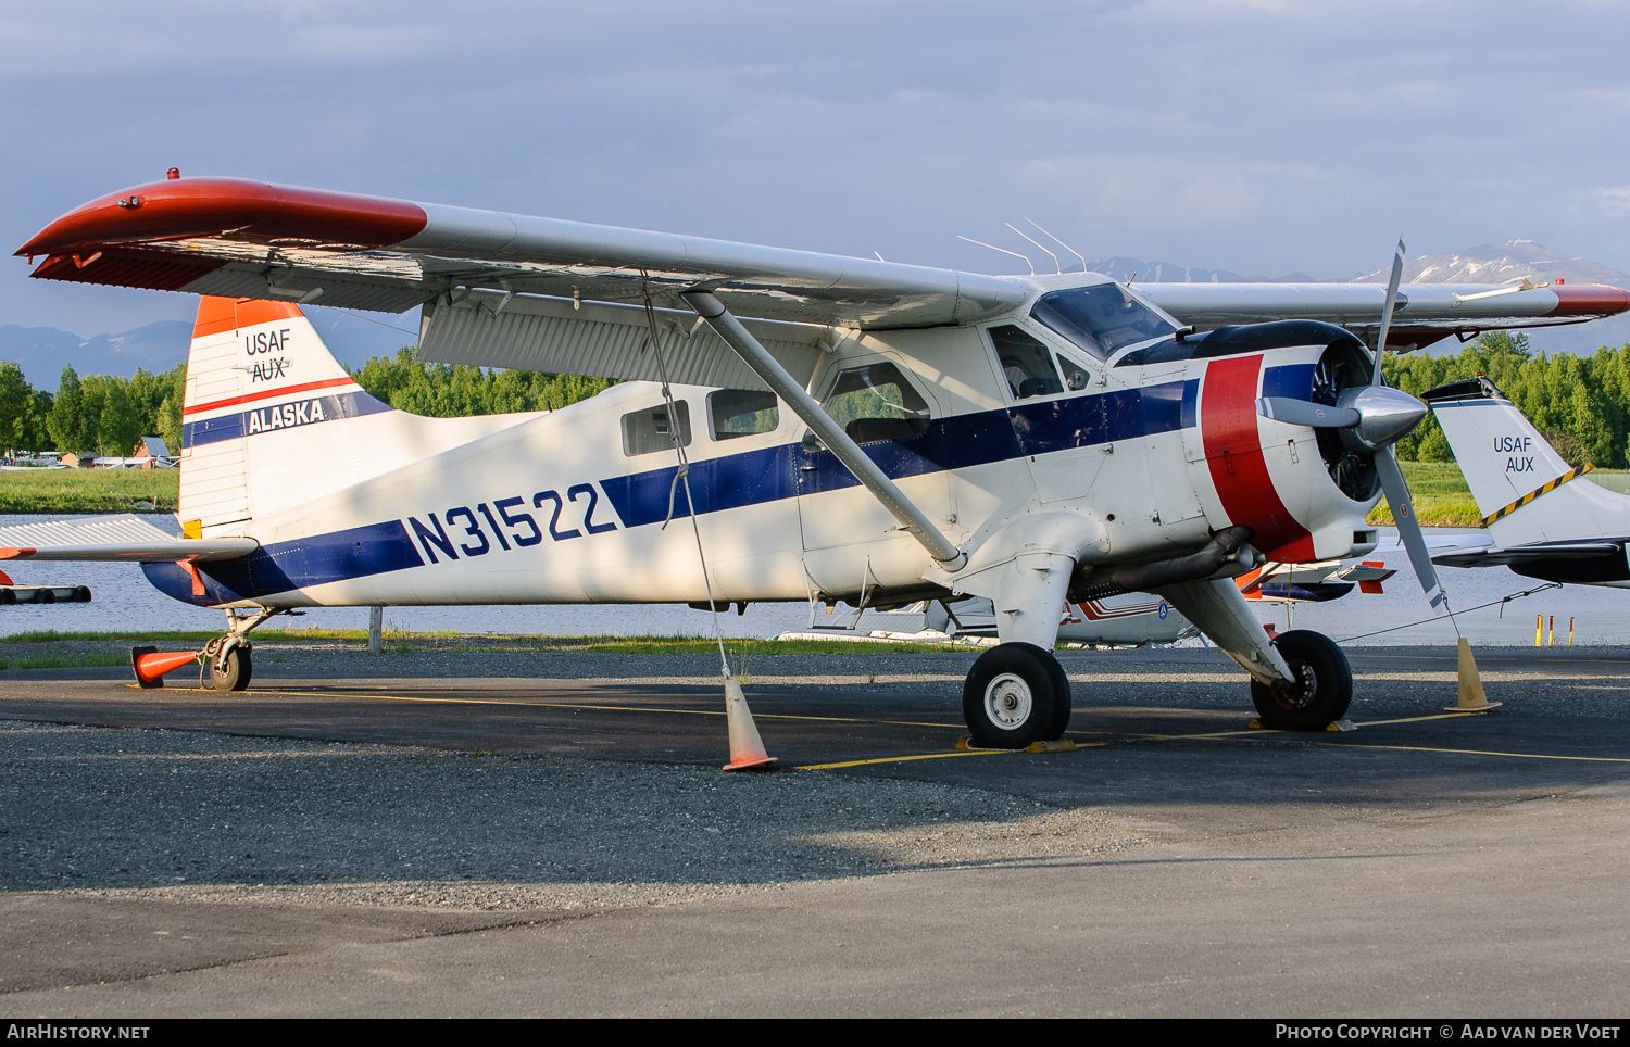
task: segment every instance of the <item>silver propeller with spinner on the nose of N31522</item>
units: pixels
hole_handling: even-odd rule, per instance
[[[1368,386],[1343,389],[1335,405],[1265,396],[1257,401],[1257,410],[1275,422],[1341,430],[1343,443],[1358,445],[1358,448],[1369,451],[1376,462],[1376,475],[1381,479],[1381,490],[1387,493],[1387,505],[1392,506],[1399,537],[1410,554],[1410,565],[1421,583],[1421,591],[1426,593],[1426,601],[1436,611],[1446,596],[1438,581],[1438,568],[1433,567],[1431,554],[1426,550],[1426,536],[1421,534],[1420,521],[1415,519],[1415,502],[1403,480],[1403,469],[1399,467],[1397,453],[1392,449],[1400,436],[1426,417],[1426,404],[1402,389],[1389,388],[1381,376],[1381,353],[1386,352],[1387,331],[1392,327],[1392,313],[1399,304],[1399,280],[1402,278],[1403,241],[1400,239],[1397,254],[1392,256],[1392,278],[1387,282],[1387,301],[1381,311],[1381,331],[1376,335],[1376,363]]]

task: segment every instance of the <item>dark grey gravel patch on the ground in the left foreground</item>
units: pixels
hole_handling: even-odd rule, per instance
[[[924,782],[0,721],[5,891],[564,910],[1148,843]]]

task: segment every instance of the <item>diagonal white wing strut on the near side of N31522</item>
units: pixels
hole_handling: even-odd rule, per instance
[[[849,433],[843,432],[836,422],[831,420],[822,405],[815,402],[815,397],[804,391],[804,386],[787,375],[787,370],[769,355],[769,352],[758,344],[758,339],[742,326],[724,303],[714,298],[709,291],[685,291],[681,295],[685,303],[696,309],[696,314],[707,321],[707,326],[724,339],[724,344],[735,350],[738,357],[753,368],[764,384],[769,386],[776,396],[792,407],[792,412],[802,418],[805,425],[815,430],[822,443],[838,456],[849,472],[854,474],[866,490],[872,492],[879,502],[883,503],[900,526],[911,532],[916,541],[927,549],[927,554],[934,557],[945,570],[957,572],[967,563],[968,557],[960,549],[950,544],[950,541],[939,532],[929,518],[923,515],[916,505],[906,498],[893,480],[890,480],[882,469],[877,467],[861,445],[849,438]]]

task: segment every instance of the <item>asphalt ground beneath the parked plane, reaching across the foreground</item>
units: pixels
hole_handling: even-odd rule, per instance
[[[243,695],[139,690],[106,671],[0,677],[0,720],[36,731],[0,764],[0,827],[23,840],[0,850],[0,1013],[1610,1018],[1630,998],[1630,650],[1482,651],[1504,702],[1488,715],[1444,712],[1452,650],[1355,650],[1358,729],[1320,734],[1252,729],[1244,674],[1214,651],[1073,653],[1079,747],[1053,754],[955,749],[960,656],[898,656],[887,687],[831,659],[766,658],[747,692],[787,770],[761,777],[717,773],[720,689],[654,656],[618,656],[601,679],[492,677],[466,658],[440,679],[399,661],[370,672],[363,655],[342,676],[258,663]],[[64,775],[91,767],[96,746],[244,762],[249,749],[341,751],[331,743],[381,760],[346,786],[365,798],[381,783],[380,804],[398,772],[456,770],[437,791],[486,790],[476,764],[448,760],[499,754],[491,767],[513,770],[504,795],[554,803],[561,840],[574,817],[608,840],[676,839],[597,819],[712,790],[724,806],[696,811],[734,821],[696,839],[740,865],[644,843],[632,866],[588,855],[572,874],[515,873],[504,847],[526,830],[505,827],[430,878],[479,881],[479,894],[370,892],[355,884],[385,881],[367,858],[391,826],[468,835],[487,809],[404,795],[368,835],[359,814],[323,806],[334,788],[321,786],[285,804],[319,809],[310,821],[333,834],[305,871],[217,855],[181,889],[129,871],[153,834],[82,821],[112,803],[90,778],[52,808],[68,782],[41,773],[47,757]],[[615,777],[564,799],[579,769]],[[295,788],[267,773],[233,788]],[[152,788],[114,783],[135,804],[121,817],[170,796]],[[18,856],[62,847],[39,842],[52,826],[95,840],[78,866]],[[258,847],[292,848],[298,832]],[[210,834],[165,847],[202,850]],[[838,840],[852,861],[810,840]],[[344,876],[318,871],[321,853],[346,848],[368,852],[347,852],[365,874],[336,889]],[[544,881],[593,891],[540,896]]]

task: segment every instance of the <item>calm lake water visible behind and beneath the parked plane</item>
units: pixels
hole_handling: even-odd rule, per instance
[[[0,515],[0,526],[42,519],[37,516]],[[155,526],[179,532],[173,516],[150,516]],[[1371,596],[1353,591],[1324,604],[1297,604],[1293,625],[1317,629],[1337,640],[1353,640],[1395,625],[1431,617],[1425,596],[1415,581],[1408,559],[1395,545],[1395,532],[1382,528],[1382,550],[1366,557],[1384,560],[1399,575],[1386,583],[1386,593]],[[88,604],[13,604],[0,606],[0,635],[36,629],[121,630],[142,629],[218,629],[222,614],[170,599],[147,583],[134,563],[29,563],[0,565],[16,585],[85,585],[91,589]],[[1513,575],[1503,567],[1483,570],[1439,568],[1443,585],[1460,614],[1460,630],[1480,645],[1527,645],[1534,642],[1534,615],[1555,617],[1558,643],[1566,643],[1568,619],[1575,620],[1575,643],[1620,643],[1630,637],[1630,589],[1565,586],[1500,607],[1470,611],[1477,604],[1498,601],[1511,593],[1535,588],[1537,583]],[[1286,609],[1258,604],[1258,617],[1286,629]],[[893,620],[890,620],[893,619]],[[745,615],[719,615],[729,637],[771,637],[786,630],[802,630],[808,624],[808,606],[753,604]],[[311,607],[305,617],[277,619],[284,627],[367,629],[367,607]],[[450,630],[460,633],[531,633],[531,635],[709,635],[707,612],[683,604],[600,604],[600,606],[502,606],[502,607],[386,607],[388,629],[414,632]],[[905,615],[867,615],[866,629],[903,629]],[[269,625],[267,629],[271,629]],[[911,625],[914,627],[914,625]],[[1397,632],[1353,640],[1363,645],[1452,643],[1454,630],[1444,622],[1430,622]]]

